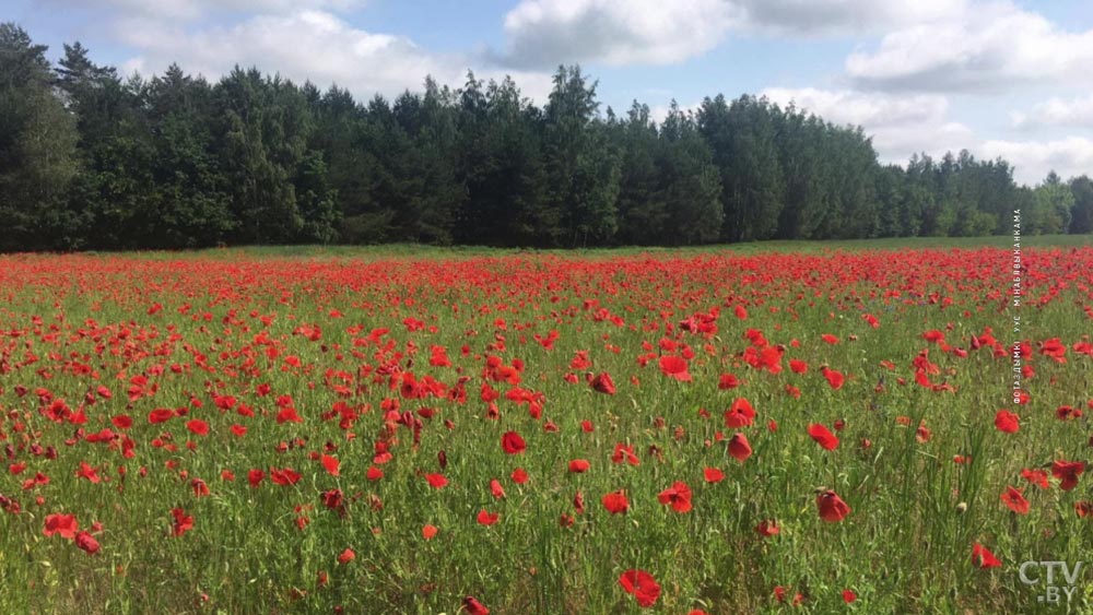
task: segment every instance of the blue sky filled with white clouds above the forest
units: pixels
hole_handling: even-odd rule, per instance
[[[637,99],[765,95],[861,126],[883,163],[967,149],[1019,182],[1093,175],[1090,0],[0,0],[60,57],[210,80],[256,66],[364,102],[512,75],[545,102],[559,64]]]

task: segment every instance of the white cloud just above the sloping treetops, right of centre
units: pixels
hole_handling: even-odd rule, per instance
[[[798,109],[815,114],[836,125],[861,126],[873,139],[881,162],[907,162],[912,154],[943,155],[972,143],[972,130],[947,116],[944,96],[919,94],[898,96],[849,90],[814,87],[768,87],[762,95],[781,106],[794,103]]]

